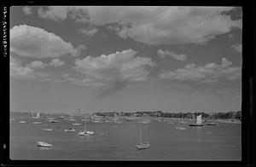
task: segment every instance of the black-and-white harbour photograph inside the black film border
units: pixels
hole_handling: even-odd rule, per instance
[[[239,6],[11,6],[9,158],[241,161]]]

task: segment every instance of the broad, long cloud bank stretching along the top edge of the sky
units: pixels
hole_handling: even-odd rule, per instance
[[[232,7],[49,7],[40,17],[96,26],[121,25],[119,37],[148,44],[206,43],[208,40],[241,28],[241,20],[227,14]]]

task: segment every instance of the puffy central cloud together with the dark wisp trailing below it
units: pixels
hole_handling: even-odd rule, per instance
[[[145,81],[148,78],[149,68],[155,66],[155,62],[148,57],[136,57],[136,54],[137,51],[127,49],[110,55],[89,55],[82,60],[77,59],[73,68],[81,72],[84,78],[66,80],[101,88],[102,93],[98,98],[112,95],[131,82]]]

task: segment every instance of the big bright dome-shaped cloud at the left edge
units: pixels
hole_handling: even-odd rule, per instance
[[[65,42],[54,33],[34,26],[14,26],[10,30],[10,43],[12,53],[39,59],[56,58],[75,52],[71,43]]]

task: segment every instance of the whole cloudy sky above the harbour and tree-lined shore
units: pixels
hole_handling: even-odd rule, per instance
[[[240,7],[12,6],[10,109],[241,110]]]

